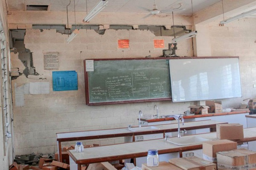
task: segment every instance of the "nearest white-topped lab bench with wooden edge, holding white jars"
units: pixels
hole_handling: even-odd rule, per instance
[[[204,133],[193,136],[199,136],[209,140],[218,140],[216,133]],[[184,140],[190,136],[183,136]],[[256,141],[256,127],[244,129],[244,139],[237,142]],[[73,161],[78,164],[78,170],[81,170],[82,164],[93,164],[105,161],[115,161],[120,159],[128,159],[135,157],[147,156],[148,149],[158,150],[159,154],[174,153],[186,150],[202,149],[202,144],[178,146],[164,139],[154,139],[149,141],[131,142],[124,144],[113,144],[100,147],[91,147],[84,149],[82,153],[76,153],[75,150],[69,150],[68,154]]]

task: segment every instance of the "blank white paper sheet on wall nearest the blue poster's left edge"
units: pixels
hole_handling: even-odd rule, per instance
[[[29,93],[32,95],[49,94],[50,93],[50,84],[49,84],[49,82],[29,83]]]

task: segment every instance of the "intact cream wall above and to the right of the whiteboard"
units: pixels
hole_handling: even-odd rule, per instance
[[[248,104],[248,98],[256,97],[256,88],[253,88],[253,84],[256,84],[256,19],[242,18],[224,26],[218,25],[220,20],[196,26],[207,30],[201,36],[205,36],[207,42],[210,39],[211,51],[202,52],[204,38],[199,40],[197,37],[197,41],[200,44],[201,56],[239,56],[242,98],[222,100],[223,108],[237,107]],[[209,49],[208,47],[209,43],[206,43],[205,49]]]

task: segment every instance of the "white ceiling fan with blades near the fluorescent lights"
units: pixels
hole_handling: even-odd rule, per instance
[[[176,1],[176,2],[178,2],[178,1]],[[175,3],[176,3],[175,2]],[[176,5],[179,5],[177,8],[172,8],[172,7],[174,7],[174,6],[176,6]],[[141,9],[144,9],[145,11],[148,11],[148,12],[150,12],[150,14],[147,14],[145,17],[143,17],[142,19],[144,19],[144,18],[146,18],[146,17],[149,17],[149,16],[151,16],[151,15],[156,15],[156,14],[160,14],[160,13],[168,13],[168,12],[173,12],[173,11],[180,11],[180,10],[184,10],[184,8],[181,8],[181,6],[183,6],[183,3],[178,3],[178,4],[175,4],[174,5],[174,3],[171,5],[171,8],[172,9],[168,9],[168,10],[158,10],[157,9],[157,5],[156,5],[156,3],[155,3],[155,0],[154,0],[154,5],[153,5],[153,9],[147,9],[147,8],[144,8],[144,7],[141,7],[140,6],[140,8]]]

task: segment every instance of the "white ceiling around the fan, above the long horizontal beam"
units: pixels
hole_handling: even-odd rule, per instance
[[[87,0],[87,9],[93,8],[93,6],[99,0]],[[172,4],[183,3],[183,8],[185,10],[175,11],[175,14],[192,14],[193,3],[193,13],[205,9],[221,0],[155,0],[157,8],[159,10],[168,10],[171,8]],[[26,5],[50,5],[49,11],[66,11],[66,7],[70,0],[7,0],[9,11],[23,11]],[[141,9],[144,7],[147,9],[152,9],[154,0],[108,0],[108,6],[102,12],[131,12],[131,13],[148,13],[147,11]],[[86,0],[75,0],[76,11],[86,11]],[[175,8],[175,6],[172,6]],[[71,0],[68,11],[74,10],[74,1]],[[170,12],[171,13],[171,12]]]

